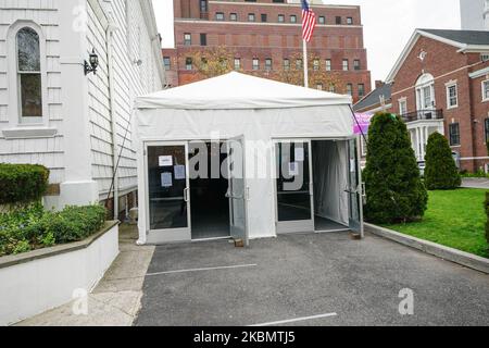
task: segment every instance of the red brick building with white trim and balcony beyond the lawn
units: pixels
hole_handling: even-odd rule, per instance
[[[419,161],[428,136],[439,132],[462,170],[489,170],[489,32],[415,30],[387,84],[385,108],[402,115]],[[378,110],[376,95],[366,96],[355,110]]]

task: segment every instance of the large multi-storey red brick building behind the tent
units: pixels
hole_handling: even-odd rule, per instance
[[[312,1],[312,9],[318,24],[309,44],[310,55],[317,58],[311,69],[330,72],[336,82],[314,87],[359,100],[371,90],[360,7]],[[176,48],[163,50],[172,86],[201,78],[190,60],[196,50],[225,47],[235,69],[262,77],[301,64],[300,1],[174,0],[174,17]]]

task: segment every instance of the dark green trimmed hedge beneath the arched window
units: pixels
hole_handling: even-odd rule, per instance
[[[37,164],[0,163],[0,204],[40,200],[48,189],[49,170]]]

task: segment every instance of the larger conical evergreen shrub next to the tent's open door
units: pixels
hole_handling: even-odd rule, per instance
[[[399,116],[377,113],[373,117],[363,174],[366,220],[392,223],[424,215],[428,194],[421,179],[408,128]]]

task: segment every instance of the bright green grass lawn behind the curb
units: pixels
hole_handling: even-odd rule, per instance
[[[484,226],[485,190],[429,191],[422,222],[385,225],[387,228],[489,258]]]

